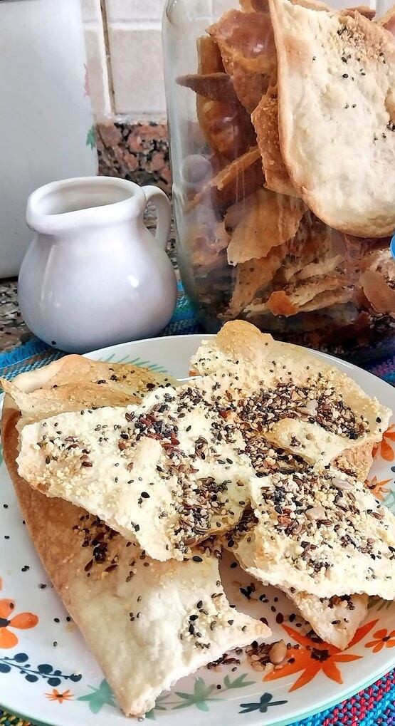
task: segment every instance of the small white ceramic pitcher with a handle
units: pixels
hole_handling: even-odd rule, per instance
[[[156,238],[144,225],[157,208]],[[169,322],[177,283],[165,253],[170,202],[157,187],[86,176],[28,198],[36,232],[20,269],[19,301],[38,338],[84,353],[154,336]]]

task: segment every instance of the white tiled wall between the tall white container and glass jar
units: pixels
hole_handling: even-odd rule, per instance
[[[81,0],[96,117],[127,114],[134,121],[165,118],[161,41],[164,2]]]

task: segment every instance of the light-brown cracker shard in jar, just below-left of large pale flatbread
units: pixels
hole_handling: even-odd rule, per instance
[[[240,219],[228,246],[229,264],[266,257],[272,248],[291,240],[306,211],[302,200],[258,189],[225,218],[225,227]]]

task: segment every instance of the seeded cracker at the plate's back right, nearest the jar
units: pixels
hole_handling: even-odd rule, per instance
[[[391,415],[336,367],[241,320],[226,323],[215,339],[203,341],[191,370],[226,372],[228,390],[237,383],[254,403],[251,414],[247,406],[238,416],[259,425],[268,441],[314,464],[381,441]]]

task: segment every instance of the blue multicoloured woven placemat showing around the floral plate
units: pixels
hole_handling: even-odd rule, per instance
[[[178,303],[169,325],[162,335],[186,335],[202,333],[203,328],[196,322],[194,308],[178,286]],[[0,375],[14,378],[27,370],[34,370],[61,358],[64,353],[54,350],[38,338],[33,338],[14,350],[0,354]],[[395,356],[376,361],[365,366],[375,375],[395,385]],[[395,726],[395,670],[378,680],[370,688],[343,701],[332,709],[295,722],[295,726]],[[0,726],[34,726],[20,717],[2,711]]]

